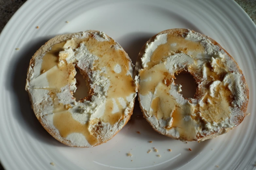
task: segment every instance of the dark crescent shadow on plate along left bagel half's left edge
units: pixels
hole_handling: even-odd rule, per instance
[[[17,122],[20,123],[21,127],[26,130],[26,132],[29,132],[32,137],[40,140],[41,142],[51,145],[65,146],[48,134],[37,120],[33,110],[31,109],[28,93],[25,91],[26,74],[29,61],[34,53],[52,37],[53,36],[48,36],[31,40],[24,46],[26,47],[25,50],[21,49],[17,51],[17,54],[14,57],[17,58],[17,60],[13,63],[14,69],[10,74],[9,81],[7,81],[7,89],[14,93],[14,103],[17,104],[13,116]]]

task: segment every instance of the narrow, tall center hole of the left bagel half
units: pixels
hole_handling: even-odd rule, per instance
[[[85,97],[89,95],[89,86],[87,85],[88,80],[86,76],[83,76],[77,67],[76,67],[76,71],[77,71],[77,74],[75,78],[77,80],[76,82],[77,90],[76,92],[73,93],[73,96],[76,98],[76,101],[78,102],[80,100],[83,100]]]

